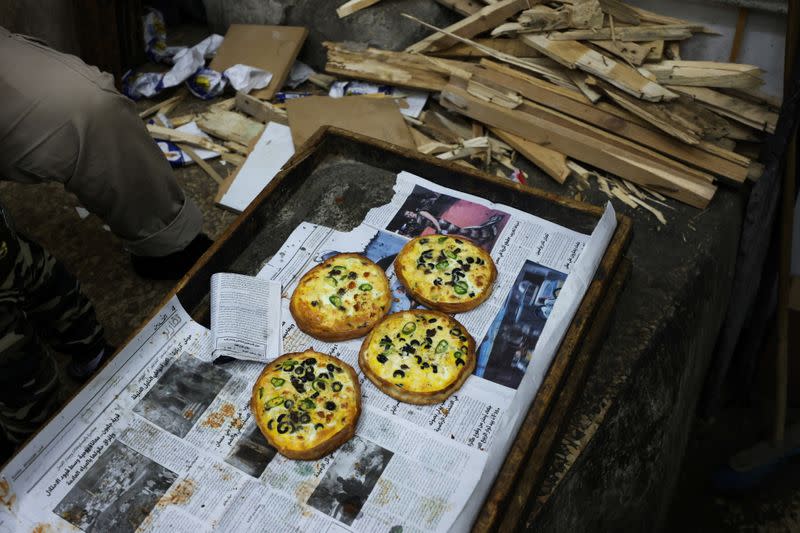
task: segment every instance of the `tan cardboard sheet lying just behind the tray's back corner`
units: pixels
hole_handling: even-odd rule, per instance
[[[286,102],[295,148],[321,126],[336,126],[406,148],[415,148],[400,108],[391,98],[309,96]]]

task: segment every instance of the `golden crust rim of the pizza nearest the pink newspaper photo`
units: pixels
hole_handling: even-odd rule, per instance
[[[450,244],[450,240],[459,241],[459,248],[467,249],[467,251],[465,251],[465,256],[479,257],[480,260],[483,261],[483,264],[479,265],[479,267],[480,273],[485,274],[486,279],[484,280],[485,286],[480,292],[475,293],[474,296],[469,296],[469,294],[467,294],[464,298],[458,298],[457,301],[442,301],[442,299],[435,299],[427,296],[426,291],[430,289],[433,284],[433,282],[429,280],[432,275],[426,275],[424,270],[417,269],[419,260],[417,255],[420,251],[419,243],[427,239],[431,242],[431,247],[436,248],[435,241],[439,238],[447,238],[448,244]],[[473,271],[478,268],[474,263],[471,264],[470,267]],[[429,270],[433,271],[433,269]],[[497,279],[497,268],[495,267],[494,260],[486,250],[467,238],[451,235],[424,235],[410,240],[400,253],[397,254],[397,258],[395,258],[395,273],[397,274],[397,279],[402,283],[403,287],[405,287],[406,292],[411,298],[426,307],[445,313],[463,313],[475,309],[491,296],[494,282]],[[419,279],[411,279],[412,276],[417,276],[417,273],[420,273]],[[469,278],[470,275],[467,274],[465,277]],[[446,276],[443,276],[443,278],[447,279]],[[417,288],[415,288],[415,283],[417,284]],[[424,289],[419,285],[420,283],[424,284]]]

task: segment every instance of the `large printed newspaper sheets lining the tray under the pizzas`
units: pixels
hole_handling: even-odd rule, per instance
[[[284,351],[313,347],[358,368],[358,341],[323,343],[293,323],[300,275],[363,252],[386,269],[393,309],[408,309],[391,267],[403,243],[433,231],[476,240],[499,276],[484,305],[458,315],[479,348],[456,394],[413,406],[360,375],[356,435],[318,461],[286,459],[250,414],[263,363],[214,364],[211,333],[173,298],[0,473],[0,530],[466,530],[614,227],[610,207],[587,236],[402,173],[362,225],[301,224],[259,276],[281,284]]]

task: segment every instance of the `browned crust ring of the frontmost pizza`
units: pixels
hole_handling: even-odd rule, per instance
[[[289,447],[283,443],[281,439],[277,438],[275,435],[276,430],[268,427],[269,417],[263,415],[265,399],[263,397],[259,398],[259,389],[264,387],[267,383],[270,383],[269,379],[271,377],[285,376],[283,371],[279,370],[276,372],[275,367],[277,365],[283,364],[285,361],[292,359],[303,360],[309,357],[313,357],[319,363],[324,363],[325,365],[332,363],[341,368],[343,370],[343,374],[347,376],[349,384],[352,385],[353,388],[352,394],[347,396],[348,400],[351,401],[351,403],[348,404],[347,411],[345,413],[347,414],[347,423],[344,425],[336,424],[335,431],[314,446],[308,448]],[[353,370],[350,365],[336,357],[315,352],[313,350],[288,353],[268,363],[259,375],[258,379],[256,379],[250,398],[250,410],[253,413],[253,417],[256,420],[256,425],[258,425],[261,433],[267,439],[267,442],[269,442],[269,444],[278,451],[278,453],[289,459],[312,461],[319,459],[320,457],[324,457],[325,455],[328,455],[332,451],[336,450],[339,446],[350,440],[355,434],[356,425],[358,424],[358,419],[361,416],[361,386],[359,385],[358,375],[356,374],[355,370]]]

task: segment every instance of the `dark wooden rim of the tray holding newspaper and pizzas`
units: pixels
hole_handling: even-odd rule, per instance
[[[158,310],[175,295],[195,320],[207,322],[211,275],[225,271],[226,266],[232,263],[231,258],[238,257],[263,228],[265,221],[255,216],[260,206],[268,200],[280,201],[287,193],[290,193],[293,186],[297,187],[297,184],[292,185],[293,181],[298,180],[297,173],[304,172],[305,167],[313,165],[315,158],[316,162],[319,162],[321,159],[318,156],[336,142],[367,145],[375,153],[384,153],[387,157],[402,160],[407,165],[405,170],[417,172],[434,182],[437,181],[437,176],[446,175],[448,179],[460,178],[464,184],[472,186],[473,189],[478,184],[483,187],[482,193],[475,190],[465,192],[481,194],[489,200],[492,200],[492,196],[496,196],[498,193],[502,192],[508,196],[510,192],[515,198],[521,195],[540,202],[550,202],[574,212],[576,216],[589,215],[599,219],[603,213],[603,209],[600,207],[497,178],[414,150],[339,128],[320,128],[167,294],[151,317],[148,317],[123,345],[130,342],[158,313]],[[371,161],[371,163],[375,163],[375,161]],[[452,184],[447,186],[453,187]],[[530,501],[530,497],[541,482],[544,466],[553,450],[556,437],[559,435],[570,406],[585,380],[592,354],[602,342],[614,303],[630,270],[630,264],[623,256],[631,235],[632,222],[630,218],[618,214],[617,229],[600,262],[597,273],[550,365],[535,401],[531,404],[522,428],[515,437],[473,525],[473,531],[515,530],[525,526],[526,513],[532,507],[535,514],[537,510],[533,505],[535,502]],[[57,415],[58,413],[55,413],[50,420]]]

